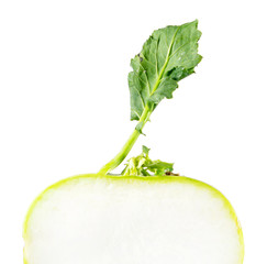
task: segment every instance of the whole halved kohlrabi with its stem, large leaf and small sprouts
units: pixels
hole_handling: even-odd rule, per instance
[[[213,187],[173,173],[143,146],[121,175],[152,112],[200,63],[198,22],[155,31],[131,62],[131,119],[137,124],[97,174],[44,190],[24,222],[25,264],[241,264],[236,215]]]

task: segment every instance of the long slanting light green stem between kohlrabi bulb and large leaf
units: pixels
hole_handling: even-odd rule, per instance
[[[151,113],[152,111],[149,110],[148,106],[146,106],[140,118],[138,124],[136,125],[138,127],[138,130],[134,129],[133,133],[131,134],[131,136],[129,138],[129,140],[126,141],[122,150],[118,153],[118,155],[114,158],[112,158],[99,170],[99,174],[108,174],[112,169],[116,168],[124,161],[129,152],[132,150],[134,143],[141,135],[141,131],[144,128],[147,120],[149,119]]]

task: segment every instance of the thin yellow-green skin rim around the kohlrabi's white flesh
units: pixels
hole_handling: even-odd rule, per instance
[[[62,186],[64,186],[65,184],[69,184],[71,180],[76,180],[79,178],[89,178],[89,177],[101,177],[101,178],[105,178],[107,180],[112,180],[112,182],[116,182],[118,184],[123,184],[123,182],[148,182],[148,183],[164,183],[164,184],[173,184],[174,182],[179,182],[179,183],[190,183],[191,185],[194,185],[199,188],[202,189],[209,189],[211,191],[211,194],[221,199],[224,202],[224,207],[229,210],[232,219],[234,220],[236,227],[237,227],[237,232],[238,232],[238,237],[240,237],[240,244],[241,244],[241,264],[243,263],[244,260],[244,239],[243,239],[243,232],[242,232],[242,228],[240,226],[240,222],[237,220],[236,213],[232,207],[232,205],[230,204],[230,201],[223,196],[222,193],[220,193],[218,189],[213,188],[212,186],[202,183],[200,180],[197,179],[192,179],[192,178],[188,178],[188,177],[182,177],[182,176],[149,176],[149,177],[144,177],[144,176],[111,176],[111,175],[101,175],[101,174],[85,174],[85,175],[78,175],[78,176],[74,176],[74,177],[69,177],[63,180],[59,180],[58,183],[49,186],[48,188],[46,188],[31,205],[26,217],[25,217],[25,221],[24,221],[24,226],[23,226],[23,239],[26,241],[27,240],[27,222],[29,219],[34,210],[34,208],[38,205],[38,202],[42,200],[42,198],[44,197],[44,195],[46,194],[46,191],[51,190],[51,189],[57,189]],[[27,261],[24,257],[24,264],[29,264]]]

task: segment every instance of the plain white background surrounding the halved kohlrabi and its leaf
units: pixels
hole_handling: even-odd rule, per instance
[[[22,222],[48,185],[96,173],[123,145],[130,59],[153,30],[199,19],[202,63],[132,151],[219,188],[241,220],[245,264],[266,263],[265,1],[0,3],[0,252],[22,263]]]

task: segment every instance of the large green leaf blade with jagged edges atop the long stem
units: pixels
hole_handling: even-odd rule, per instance
[[[132,61],[129,74],[131,120],[140,120],[144,108],[151,111],[164,99],[173,98],[178,81],[194,73],[200,63],[198,21],[154,31]]]

